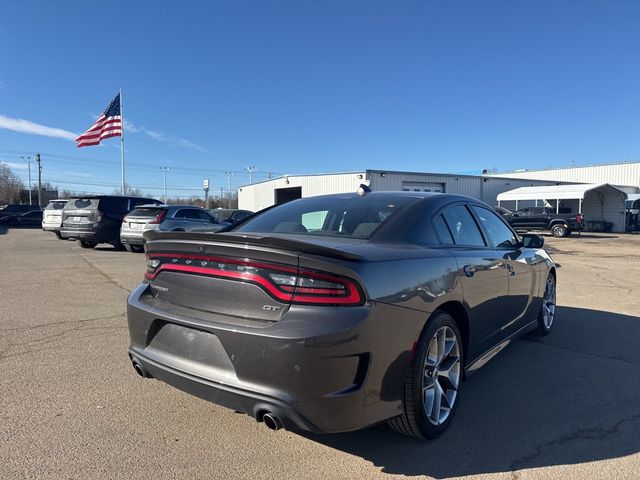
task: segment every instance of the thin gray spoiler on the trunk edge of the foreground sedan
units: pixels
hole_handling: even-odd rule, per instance
[[[273,247],[283,250],[290,250],[302,253],[311,253],[314,255],[322,255],[324,257],[339,258],[342,260],[360,261],[361,255],[345,252],[336,248],[325,247],[312,242],[304,242],[301,240],[292,240],[272,235],[256,235],[256,234],[233,234],[233,233],[209,233],[209,232],[156,232],[149,230],[144,233],[147,242],[155,240],[168,241],[186,241],[186,242],[202,242],[202,243],[231,243],[240,245],[256,245],[261,247]]]

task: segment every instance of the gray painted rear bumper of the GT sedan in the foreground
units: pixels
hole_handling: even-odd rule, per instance
[[[291,307],[282,320],[258,326],[205,317],[163,304],[140,285],[128,300],[129,356],[180,390],[313,432],[357,430],[402,413],[410,352],[425,318],[375,303]]]

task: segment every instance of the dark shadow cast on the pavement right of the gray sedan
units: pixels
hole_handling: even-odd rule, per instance
[[[558,307],[551,335],[514,342],[463,385],[450,428],[414,440],[385,425],[303,434],[385,473],[435,478],[640,452],[640,318]]]

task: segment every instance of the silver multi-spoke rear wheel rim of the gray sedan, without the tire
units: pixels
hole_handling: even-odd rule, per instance
[[[458,337],[450,327],[440,327],[429,341],[422,379],[424,413],[433,425],[444,423],[453,410],[460,372]]]

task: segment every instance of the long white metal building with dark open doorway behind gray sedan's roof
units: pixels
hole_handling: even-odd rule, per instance
[[[499,193],[519,187],[559,185],[563,182],[521,180],[497,176],[455,175],[444,173],[364,170],[318,175],[285,175],[238,189],[238,208],[257,212],[263,208],[302,197],[329,193],[355,192],[360,184],[374,191],[443,192],[467,195],[489,205],[496,204]]]

